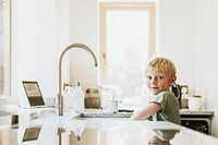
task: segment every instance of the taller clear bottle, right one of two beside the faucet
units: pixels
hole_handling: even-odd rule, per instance
[[[81,88],[81,83],[76,82],[73,93],[73,110],[75,112],[83,112],[84,111],[84,93]]]

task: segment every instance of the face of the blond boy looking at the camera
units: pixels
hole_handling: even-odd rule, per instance
[[[167,77],[162,70],[150,70],[146,72],[146,82],[150,93],[157,95],[160,92],[169,90],[174,80]]]

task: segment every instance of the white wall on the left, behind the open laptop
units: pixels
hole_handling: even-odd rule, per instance
[[[58,59],[69,45],[69,1],[12,1],[12,96],[22,80],[38,81],[45,97],[58,93]]]

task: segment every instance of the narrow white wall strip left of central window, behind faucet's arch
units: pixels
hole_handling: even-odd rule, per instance
[[[87,45],[98,58],[98,0],[71,0],[71,41]],[[71,53],[71,84],[80,81],[82,88],[97,87],[94,59],[82,49]]]

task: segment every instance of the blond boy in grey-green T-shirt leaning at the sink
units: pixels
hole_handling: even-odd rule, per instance
[[[170,87],[177,80],[175,74],[174,64],[166,58],[155,58],[148,63],[145,76],[148,89],[154,97],[149,105],[134,113],[131,120],[145,120],[153,116],[153,121],[170,121],[181,124],[179,101],[170,92]],[[171,134],[169,138],[160,140],[169,141],[173,136],[174,134]]]

